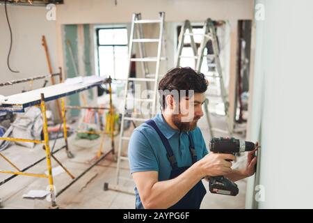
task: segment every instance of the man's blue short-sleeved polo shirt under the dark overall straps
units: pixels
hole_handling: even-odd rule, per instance
[[[177,160],[178,167],[190,167],[192,164],[189,151],[188,132],[174,130],[166,123],[161,112],[152,118],[161,132],[164,134]],[[207,146],[200,128],[191,131],[197,159],[207,155]],[[159,134],[147,123],[143,123],[131,134],[128,147],[129,165],[131,174],[140,171],[157,171],[159,181],[170,178],[170,162],[166,156],[166,148],[159,137]]]

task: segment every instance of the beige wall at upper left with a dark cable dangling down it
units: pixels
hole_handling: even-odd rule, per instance
[[[8,16],[13,30],[13,49],[10,66],[19,70],[18,74],[10,72],[6,66],[6,58],[10,46],[10,33],[6,22],[4,6],[0,6],[0,82],[25,77],[46,75],[49,73],[45,49],[42,47],[42,35],[46,36],[51,63],[54,72],[58,72],[56,59],[56,22],[46,20],[45,7],[8,6]],[[42,86],[43,81],[34,83],[34,87]],[[28,90],[29,84],[17,84],[0,88],[0,95],[20,93]]]

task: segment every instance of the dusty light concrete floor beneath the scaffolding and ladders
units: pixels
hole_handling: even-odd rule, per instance
[[[223,121],[218,117],[213,118],[216,125],[222,125]],[[202,130],[204,139],[209,143],[209,133],[205,117],[199,121],[199,127]],[[223,135],[223,134],[221,134]],[[237,136],[240,137],[240,136]],[[58,139],[56,148],[63,146],[63,139]],[[88,141],[85,139],[75,139],[72,135],[69,139],[70,150],[74,153],[73,159],[68,159],[65,151],[56,153],[56,157],[67,167],[74,176],[78,176],[84,169],[90,165],[90,160],[95,157],[99,149],[99,139]],[[51,142],[52,145],[52,142]],[[126,146],[124,146],[126,147]],[[109,137],[106,137],[104,145],[105,151],[109,151]],[[115,149],[118,148],[118,137],[115,138]],[[17,166],[22,169],[35,160],[45,156],[42,146],[35,148],[25,148],[13,144],[3,155],[9,157]],[[58,164],[52,161],[53,167],[58,167]],[[243,167],[244,156],[239,157],[234,167]],[[115,167],[113,155],[108,155],[105,160],[102,160],[96,167],[88,171],[86,175],[80,178],[70,188],[57,198],[57,203],[60,208],[134,208],[134,195],[124,194],[115,191],[104,191],[104,183],[115,182]],[[121,175],[131,178],[129,174],[127,161],[122,162]],[[13,170],[1,158],[0,169]],[[45,160],[40,164],[29,169],[28,172],[43,174],[47,169]],[[0,174],[0,181],[8,178],[8,174]],[[61,190],[65,185],[70,183],[71,178],[62,173],[54,176],[54,184],[56,191]],[[125,180],[121,182],[123,186],[133,190],[134,183]],[[207,192],[202,201],[201,208],[244,208],[245,205],[245,190],[246,180],[237,182],[239,186],[239,194],[236,197],[228,197]],[[204,185],[208,190],[208,183],[204,180]],[[23,194],[29,190],[47,190],[47,178],[33,178],[29,176],[17,176],[8,183],[1,185],[0,198],[2,199],[2,208],[49,208],[50,203],[46,199],[24,199]]]

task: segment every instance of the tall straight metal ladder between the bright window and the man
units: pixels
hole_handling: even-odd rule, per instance
[[[115,190],[118,192],[125,192],[127,194],[134,194],[133,188],[131,190],[129,187],[124,187],[120,183],[120,179],[123,180],[131,180],[131,178],[123,178],[120,176],[121,170],[121,162],[122,160],[128,161],[128,157],[126,155],[122,155],[122,148],[124,142],[129,142],[130,137],[125,136],[125,121],[134,122],[144,122],[148,119],[152,118],[154,114],[157,112],[157,86],[159,81],[159,68],[161,60],[165,60],[165,57],[161,57],[162,51],[162,43],[163,43],[163,29],[164,29],[164,17],[165,13],[159,13],[159,20],[142,20],[141,13],[134,13],[131,22],[131,33],[129,38],[129,74],[127,77],[127,81],[125,84],[125,95],[124,95],[124,111],[122,112],[122,121],[120,126],[120,140],[118,146],[118,157],[117,157],[117,169],[116,169],[116,184],[104,183],[104,190]],[[143,37],[143,26],[142,24],[159,24],[159,38],[144,38]],[[136,35],[136,38],[135,38]],[[139,58],[132,58],[131,54],[133,51],[133,43],[138,43],[139,49]],[[157,56],[155,57],[147,57],[145,52],[145,43],[157,43]],[[145,77],[130,77],[131,72],[131,62],[141,62],[141,68],[143,70],[143,74]],[[155,73],[151,74],[149,70],[149,66],[147,62],[156,63]],[[129,82],[134,83],[143,83],[145,82],[147,89],[151,88],[152,93],[150,93],[150,98],[127,98],[129,93]],[[136,95],[136,93],[135,93]],[[141,114],[138,117],[138,114],[131,113],[129,114],[129,108],[127,107],[127,102],[147,102],[150,103],[150,114],[143,115]],[[148,116],[148,117],[147,117]]]

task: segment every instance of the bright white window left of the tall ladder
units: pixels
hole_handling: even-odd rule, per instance
[[[100,76],[125,79],[128,72],[127,28],[97,29],[98,69]]]

